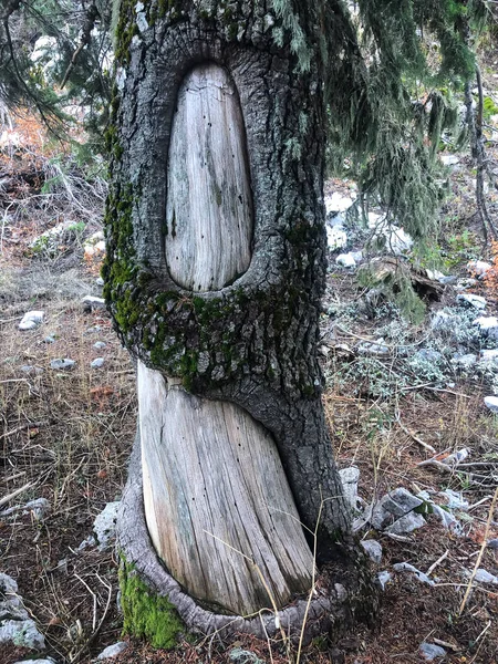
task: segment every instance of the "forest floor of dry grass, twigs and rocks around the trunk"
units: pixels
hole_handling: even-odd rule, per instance
[[[115,553],[80,544],[91,535],[95,517],[123,490],[136,425],[135,373],[106,311],[89,312],[81,303],[86,294],[101,294],[96,278],[102,253],[84,252],[85,239],[101,229],[104,194],[98,178],[83,181],[75,166],[56,170],[53,154],[32,125],[29,133],[33,149],[23,152],[21,163],[19,151],[3,151],[1,164],[8,186],[0,188],[0,512],[39,498],[49,501],[50,511],[42,518],[30,508],[14,517],[0,515],[0,572],[17,580],[24,606],[45,637],[44,655],[74,664],[92,661],[122,639]],[[490,155],[497,158],[496,145],[490,145]],[[46,186],[49,167],[55,169],[52,189]],[[437,249],[445,273],[469,277],[466,266],[473,259],[498,266],[496,251],[483,242],[471,159],[459,155],[458,168],[447,177],[450,194],[442,209]],[[347,181],[329,186],[350,190]],[[498,193],[488,193],[487,200],[498,219]],[[66,228],[54,243],[33,246],[61,221]],[[414,369],[406,373],[401,347],[409,346],[412,353],[425,344],[435,312],[454,304],[455,288],[445,287],[427,303],[424,320],[406,323],[386,302],[375,304],[373,312],[365,310],[365,289],[354,271],[335,264],[336,253],[331,253],[322,353],[323,401],[340,467],[360,469],[359,494],[366,505],[405,487],[414,494],[450,488],[469,507],[457,515],[458,533],[445,529],[435,515],[426,515],[426,526],[397,539],[362,530],[363,539],[377,539],[383,548],[375,572],[392,572],[393,564],[408,562],[430,570],[434,585],[413,574],[392,573],[376,631],[359,630],[335,650],[313,643],[301,662],[419,663],[425,661],[419,645],[429,642],[443,645],[445,662],[492,664],[498,662],[498,587],[473,583],[460,613],[468,587],[465,570],[474,569],[481,551],[479,568],[498,573],[498,550],[483,547],[498,538],[496,516],[489,516],[498,484],[498,416],[484,404],[492,376],[452,363],[438,380],[421,378]],[[498,280],[477,281],[465,292],[484,295],[486,314],[498,314]],[[42,310],[43,322],[20,331],[29,310]],[[381,335],[387,339],[388,353],[365,361],[360,344]],[[469,343],[476,351],[475,338]],[[102,366],[92,367],[97,357],[104,360]],[[56,359],[75,364],[52,369]],[[464,448],[470,463],[481,465],[450,470],[418,465]],[[25,649],[0,649],[0,664],[33,656]],[[295,661],[283,643],[247,639],[229,649],[214,640],[184,643],[168,653],[129,640],[114,661],[228,663],[236,661],[237,649],[240,662]]]

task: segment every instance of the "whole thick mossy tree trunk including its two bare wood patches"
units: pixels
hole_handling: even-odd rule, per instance
[[[134,566],[190,630],[264,635],[259,618],[224,614],[283,609],[264,629],[297,631],[305,602],[284,606],[311,589],[317,543],[334,571],[310,633],[347,622],[371,587],[317,360],[318,13],[311,2],[283,18],[270,1],[122,2],[105,292],[139,360],[125,575]]]

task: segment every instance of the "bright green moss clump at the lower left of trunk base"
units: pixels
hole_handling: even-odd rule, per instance
[[[172,649],[185,632],[175,608],[164,596],[151,592],[133,566],[121,561],[121,604],[123,633],[145,637],[154,647]]]

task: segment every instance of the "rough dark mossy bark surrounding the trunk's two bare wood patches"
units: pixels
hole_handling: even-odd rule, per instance
[[[349,536],[350,508],[326,432],[317,360],[326,269],[319,17],[312,3],[302,3],[294,18],[305,42],[301,59],[293,54],[295,31],[288,33],[270,1],[169,2],[167,9],[153,1],[138,14],[133,3],[122,7],[106,299],[123,342],[145,366],[181,380],[194,395],[231,402],[271,435],[299,517],[309,531],[317,529],[318,561],[341,568],[356,593],[366,585],[361,570],[352,569],[360,559]],[[170,261],[168,268],[166,173],[178,94],[189,72],[206,63],[227,71],[238,93],[253,239],[242,274],[229,283],[224,277],[215,290],[205,290],[208,280],[194,292],[179,286]],[[139,474],[135,465],[120,542],[153,588],[172,598],[174,583],[179,596],[177,584],[144,552],[146,531],[139,530],[142,544],[126,532],[138,528]],[[333,595],[333,583],[329,590]],[[341,604],[332,595],[331,603],[319,600],[323,616]],[[219,616],[196,623],[200,609],[188,603],[184,611],[181,598],[172,602],[190,629],[219,626]],[[344,618],[346,610],[338,611]],[[299,615],[292,615],[297,627]]]

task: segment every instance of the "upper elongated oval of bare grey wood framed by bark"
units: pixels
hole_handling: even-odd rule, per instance
[[[207,63],[185,77],[168,160],[166,261],[188,290],[218,290],[251,259],[252,199],[246,132],[227,71]]]

